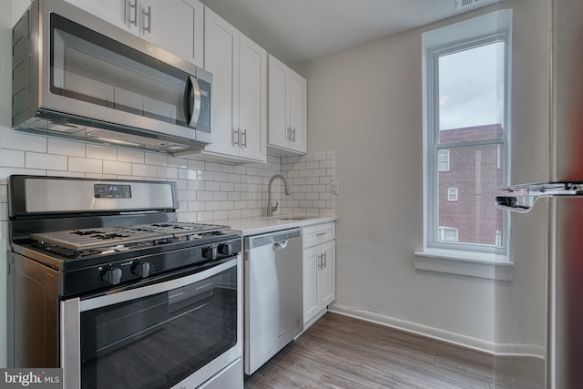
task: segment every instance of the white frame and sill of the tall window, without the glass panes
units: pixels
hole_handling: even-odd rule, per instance
[[[468,34],[469,32],[469,34]],[[462,38],[460,38],[460,36]],[[505,138],[499,142],[470,141],[439,144],[437,104],[434,98],[438,82],[436,62],[440,55],[454,53],[456,50],[470,49],[496,41],[506,43],[506,90],[505,114],[503,128]],[[508,241],[502,246],[478,245],[471,243],[448,243],[438,241],[438,164],[440,149],[455,147],[472,147],[484,144],[498,144],[505,153],[505,183],[509,182],[510,172],[510,107],[512,68],[512,10],[497,10],[486,15],[479,15],[450,26],[440,27],[423,33],[423,115],[424,115],[424,246],[423,251],[415,252],[415,267],[421,270],[445,271],[496,280],[512,279],[512,263],[507,252]],[[493,199],[494,201],[494,199]],[[504,212],[504,230],[510,229],[510,221]],[[504,236],[509,234],[505,233]],[[476,264],[475,267],[468,266]]]

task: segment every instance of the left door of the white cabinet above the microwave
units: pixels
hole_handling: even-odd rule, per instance
[[[66,0],[72,5],[86,10],[88,13],[139,34],[140,9],[139,0]]]

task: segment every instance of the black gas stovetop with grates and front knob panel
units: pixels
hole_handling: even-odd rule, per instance
[[[35,232],[12,243],[16,254],[61,278],[62,296],[207,266],[242,250],[240,232],[227,226],[178,221]]]

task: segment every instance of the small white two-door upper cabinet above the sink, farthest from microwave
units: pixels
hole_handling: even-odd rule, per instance
[[[277,154],[305,154],[308,131],[305,78],[269,56],[269,138]]]

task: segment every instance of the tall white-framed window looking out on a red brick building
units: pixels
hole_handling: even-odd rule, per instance
[[[507,261],[494,203],[508,182],[511,21],[499,10],[423,34],[424,257]]]

